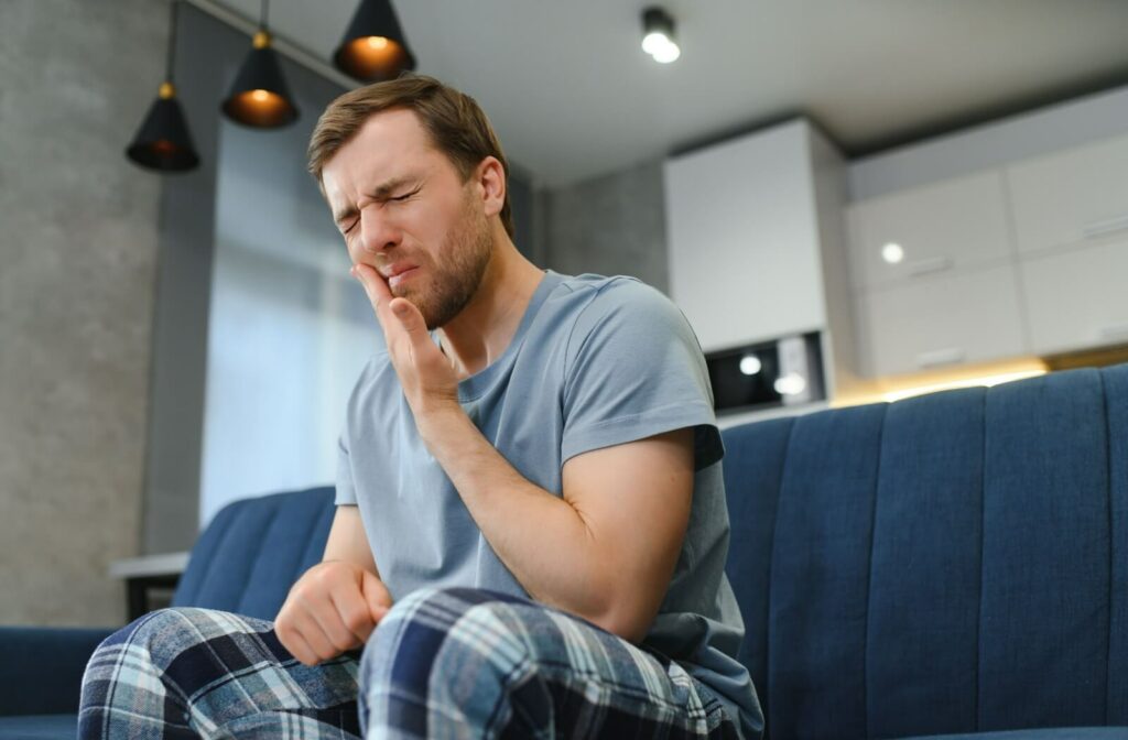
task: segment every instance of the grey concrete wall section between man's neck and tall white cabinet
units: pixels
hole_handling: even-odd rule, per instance
[[[538,195],[544,266],[573,275],[633,275],[669,289],[660,160]]]

